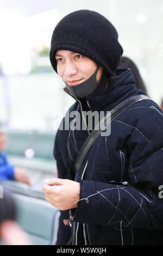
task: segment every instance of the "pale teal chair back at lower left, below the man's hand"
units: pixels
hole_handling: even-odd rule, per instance
[[[43,192],[16,181],[5,181],[17,206],[17,222],[32,245],[55,245],[60,211],[46,202]]]

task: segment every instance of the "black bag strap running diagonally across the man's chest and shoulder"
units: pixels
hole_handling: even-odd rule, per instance
[[[136,102],[142,101],[142,100],[151,100],[152,99],[147,95],[135,95],[132,97],[129,97],[127,100],[122,101],[119,103],[115,108],[111,110],[110,113],[106,114],[105,117],[99,121],[99,123],[96,125],[95,129],[91,132],[91,134],[86,138],[85,142],[82,145],[82,148],[79,151],[79,154],[77,156],[76,162],[75,162],[75,169],[76,172],[78,172],[78,169],[80,165],[82,164],[83,160],[85,159],[86,154],[92,147],[93,143],[96,141],[99,134],[106,129],[106,126],[111,123],[112,120],[114,120],[118,115],[120,115],[124,110],[126,110],[131,105],[134,105]],[[97,129],[98,127],[98,129]]]

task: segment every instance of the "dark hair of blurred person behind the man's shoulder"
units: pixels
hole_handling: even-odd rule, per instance
[[[133,75],[135,77],[135,85],[137,89],[141,89],[143,92],[147,94],[147,88],[145,86],[145,83],[143,82],[143,79],[140,75],[140,72],[137,66],[135,65],[133,60],[129,59],[128,57],[122,56],[117,69],[128,69],[128,68],[133,72]]]

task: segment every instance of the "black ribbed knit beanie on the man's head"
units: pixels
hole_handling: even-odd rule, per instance
[[[114,74],[123,53],[115,27],[104,16],[90,10],[74,11],[55,27],[50,60],[56,72],[58,50],[77,52],[94,60],[103,66],[107,76]]]

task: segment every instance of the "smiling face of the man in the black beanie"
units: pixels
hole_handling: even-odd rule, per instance
[[[82,54],[67,50],[58,50],[55,54],[57,72],[62,80],[69,86],[83,83],[96,71],[97,63]],[[103,72],[98,70],[96,79],[99,81]]]

